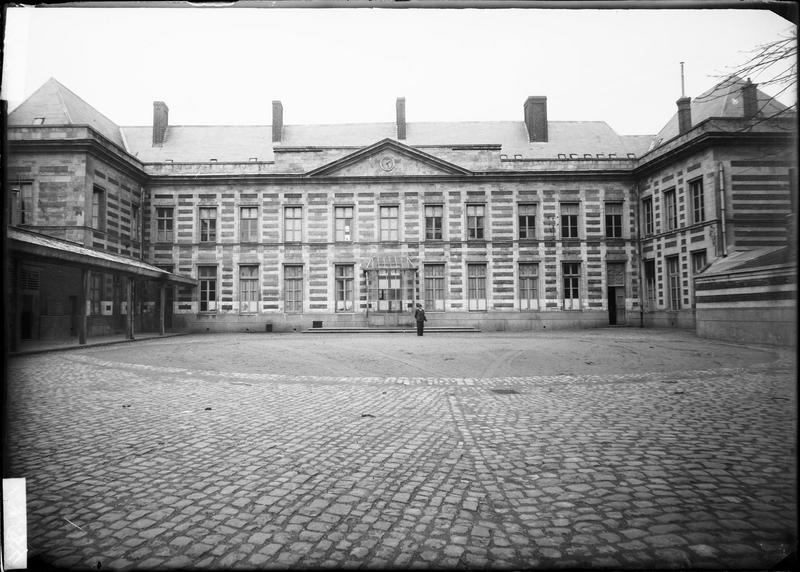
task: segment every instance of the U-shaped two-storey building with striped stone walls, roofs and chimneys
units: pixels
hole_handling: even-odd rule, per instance
[[[11,222],[165,272],[134,284],[141,328],[409,326],[416,303],[434,326],[693,328],[696,276],[786,244],[795,134],[738,78],[686,100],[655,136],[544,97],[518,122],[407,123],[400,98],[393,123],[285,125],[276,101],[271,125],[172,126],[155,102],[120,127],[50,80],[9,116]],[[113,330],[119,279],[92,280]]]

